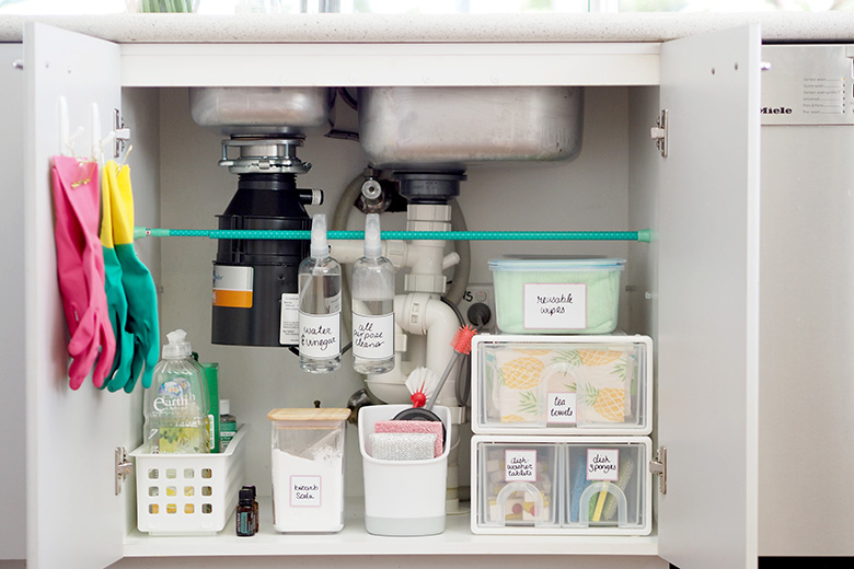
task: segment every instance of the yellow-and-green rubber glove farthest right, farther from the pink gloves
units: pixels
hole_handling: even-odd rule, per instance
[[[127,393],[142,378],[142,386],[151,386],[151,373],[160,356],[158,298],[154,280],[134,249],[134,194],[130,188],[130,166],[117,169],[116,184],[111,186],[113,242],[122,266],[122,286],[127,298],[126,328],[134,335],[134,358],[124,388]],[[124,348],[123,348],[124,351]],[[120,381],[120,380],[116,380]]]

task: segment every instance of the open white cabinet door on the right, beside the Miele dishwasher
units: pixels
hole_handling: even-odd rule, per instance
[[[758,26],[668,43],[659,199],[660,553],[757,566]]]

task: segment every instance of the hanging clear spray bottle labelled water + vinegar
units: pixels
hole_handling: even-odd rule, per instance
[[[311,222],[311,256],[300,263],[300,368],[328,373],[341,365],[341,265],[330,257],[326,216]]]

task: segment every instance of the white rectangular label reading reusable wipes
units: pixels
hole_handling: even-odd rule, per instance
[[[522,292],[526,329],[584,329],[587,327],[587,284],[529,282]]]

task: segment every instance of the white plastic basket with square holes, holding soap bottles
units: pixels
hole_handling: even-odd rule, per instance
[[[136,458],[137,526],[151,535],[215,534],[238,504],[243,484],[245,444],[242,427],[217,454],[151,454]]]

